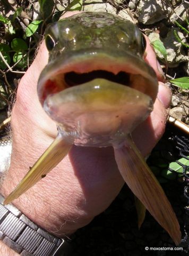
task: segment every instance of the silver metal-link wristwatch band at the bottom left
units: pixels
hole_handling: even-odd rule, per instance
[[[0,240],[22,256],[67,256],[71,243],[48,233],[0,195]]]

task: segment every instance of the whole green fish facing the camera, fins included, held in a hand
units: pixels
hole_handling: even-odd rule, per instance
[[[178,245],[175,212],[131,135],[150,115],[158,93],[157,76],[143,58],[144,35],[117,15],[81,12],[51,23],[45,43],[49,60],[37,92],[57,124],[57,137],[4,204],[45,178],[73,145],[113,147],[119,172],[136,198],[139,226],[147,209]]]

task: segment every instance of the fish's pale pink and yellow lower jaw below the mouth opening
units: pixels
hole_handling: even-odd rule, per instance
[[[144,121],[153,102],[147,94],[96,78],[48,95],[43,108],[75,145],[107,146]]]

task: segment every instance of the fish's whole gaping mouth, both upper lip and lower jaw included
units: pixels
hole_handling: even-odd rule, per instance
[[[67,132],[80,131],[85,138],[120,128],[125,134],[152,111],[157,79],[144,61],[137,66],[109,57],[75,58],[56,67],[50,63],[39,78],[38,95],[46,113]]]

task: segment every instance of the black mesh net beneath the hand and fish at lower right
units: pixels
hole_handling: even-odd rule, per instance
[[[182,230],[182,243],[178,247],[182,249],[175,249],[172,239],[148,212],[141,229],[138,230],[134,197],[125,185],[104,213],[87,227],[77,231],[73,238],[74,255],[188,255],[188,155],[186,134],[172,125],[167,125],[164,136],[148,159],[149,166],[156,174],[177,215]],[[165,249],[147,251],[146,246]]]

